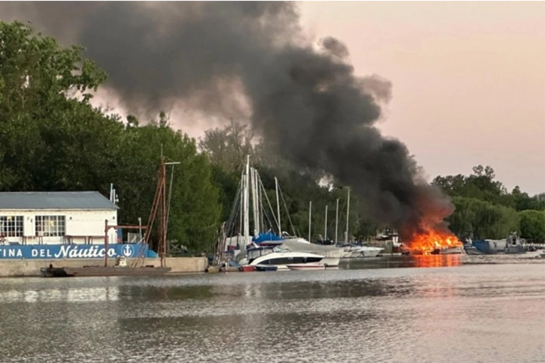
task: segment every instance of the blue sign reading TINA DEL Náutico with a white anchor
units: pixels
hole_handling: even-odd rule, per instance
[[[142,251],[143,249],[143,251]],[[0,246],[2,259],[63,259],[63,258],[104,258],[104,245],[10,245]],[[136,258],[155,258],[157,253],[147,248],[147,245],[112,243],[108,244],[108,258],[125,256]]]

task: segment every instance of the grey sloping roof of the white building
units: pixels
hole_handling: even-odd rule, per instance
[[[6,209],[119,209],[98,191],[0,192],[0,210]]]

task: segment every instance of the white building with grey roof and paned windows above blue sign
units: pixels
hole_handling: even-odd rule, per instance
[[[0,192],[0,245],[102,244],[106,220],[117,226],[118,206],[98,191]]]

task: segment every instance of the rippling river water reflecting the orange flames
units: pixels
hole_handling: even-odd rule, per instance
[[[2,279],[0,362],[545,362],[545,260],[402,262]]]

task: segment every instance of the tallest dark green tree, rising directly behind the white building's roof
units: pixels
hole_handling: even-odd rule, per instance
[[[89,91],[106,79],[105,73],[81,57],[82,48],[63,48],[23,23],[0,22],[0,44],[0,189],[87,186],[92,179],[74,173],[75,155],[82,149],[103,154],[105,142],[122,130],[115,117],[88,104]],[[117,134],[110,134],[112,127]],[[107,164],[101,162],[97,170]]]

